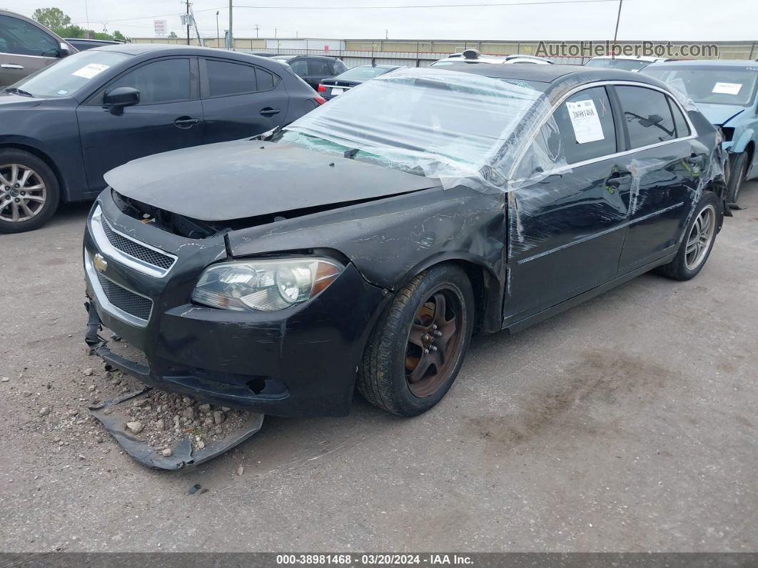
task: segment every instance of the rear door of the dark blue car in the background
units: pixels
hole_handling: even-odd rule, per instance
[[[200,80],[204,143],[256,136],[287,117],[283,81],[258,65],[201,58]]]

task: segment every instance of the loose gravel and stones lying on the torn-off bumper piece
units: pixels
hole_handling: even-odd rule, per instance
[[[139,441],[146,442],[156,453],[170,456],[179,441],[189,438],[193,448],[222,440],[239,430],[250,413],[227,406],[211,406],[193,397],[152,389],[131,402],[127,413],[127,430]]]

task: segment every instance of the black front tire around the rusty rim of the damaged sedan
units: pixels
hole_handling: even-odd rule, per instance
[[[442,331],[437,331],[436,326],[432,330],[432,323],[429,323],[437,322],[437,298],[440,298],[440,294],[447,314],[441,317],[448,319],[452,314],[454,319],[450,318],[450,321],[456,323],[456,331],[451,332],[449,337],[447,332],[443,334]],[[399,416],[417,416],[431,409],[442,400],[458,376],[471,340],[474,313],[471,282],[458,266],[436,265],[413,278],[398,291],[368,340],[358,374],[358,389],[363,397],[374,406]],[[424,318],[429,315],[431,320],[421,322],[420,315]],[[444,323],[440,329],[447,329],[448,325],[449,323]],[[434,347],[431,354],[424,355],[430,353],[429,349],[421,350],[421,347],[413,343],[411,334],[418,339],[416,334],[420,329],[428,329],[435,334],[432,337],[424,333],[424,341],[431,341],[429,349]],[[453,333],[456,334],[455,337]],[[435,338],[437,334],[442,337]],[[442,342],[439,352],[435,341]],[[443,364],[440,368],[434,362],[431,366],[427,362],[428,372],[424,377],[434,377],[421,378],[412,384],[409,374],[413,375],[415,370],[409,369],[409,360],[412,360],[414,350],[418,350],[418,370],[423,371],[421,361],[425,357],[439,356]],[[412,389],[415,389],[416,394]]]

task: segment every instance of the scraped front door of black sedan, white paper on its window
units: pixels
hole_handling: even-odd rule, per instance
[[[508,325],[616,276],[630,176],[605,86],[569,96],[517,168],[509,198]],[[620,129],[618,129],[620,130]]]

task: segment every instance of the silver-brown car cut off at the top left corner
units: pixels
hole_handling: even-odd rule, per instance
[[[0,87],[76,53],[51,30],[28,17],[0,10]]]

